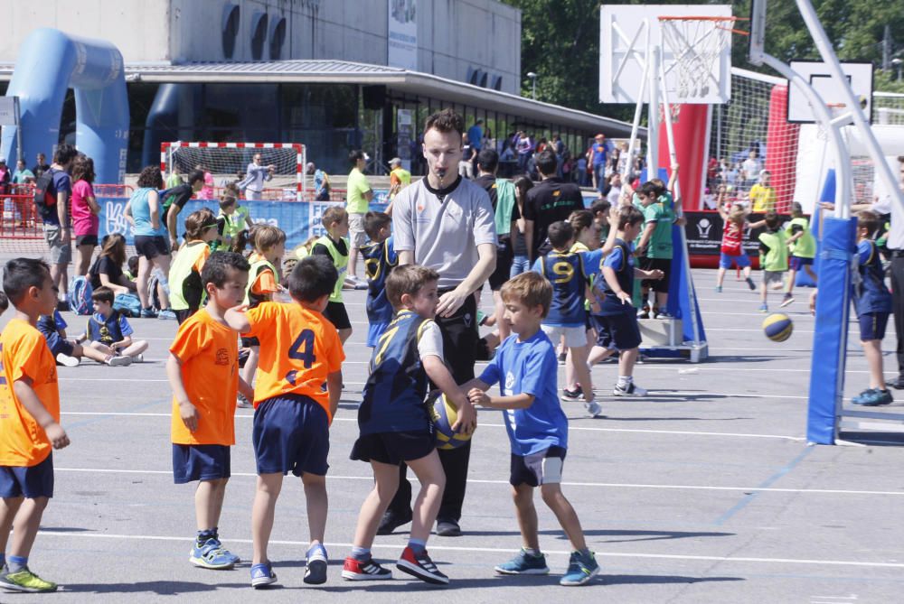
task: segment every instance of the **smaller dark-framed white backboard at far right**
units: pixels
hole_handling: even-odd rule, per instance
[[[872,117],[872,63],[843,62],[841,65],[854,97],[860,100],[866,121],[870,122]],[[843,88],[832,78],[831,72],[824,62],[792,60],[789,66],[791,70],[796,71],[810,83],[825,104],[833,107],[833,114],[845,113],[843,106],[847,105],[847,98],[844,96]],[[788,122],[813,124],[815,121],[813,109],[806,99],[804,90],[792,83],[788,87]]]

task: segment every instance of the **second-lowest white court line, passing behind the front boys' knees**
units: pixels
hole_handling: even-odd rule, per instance
[[[54,468],[61,472],[91,472],[102,474],[165,474],[172,476],[172,470],[168,469],[95,469],[95,468]],[[241,478],[257,478],[257,474],[252,472],[232,472],[231,476]],[[339,476],[329,474],[328,479],[331,480],[368,480],[372,481],[372,476]],[[409,477],[410,481],[416,480],[415,477]],[[469,483],[482,485],[509,485],[508,480],[487,480],[487,479],[467,479]],[[845,488],[759,488],[759,487],[711,487],[708,485],[653,485],[643,483],[630,482],[562,482],[567,487],[598,487],[598,488],[650,488],[650,489],[667,489],[667,490],[696,490],[696,491],[743,491],[762,492],[762,493],[800,493],[814,495],[890,495],[904,496],[904,491],[858,491]]]

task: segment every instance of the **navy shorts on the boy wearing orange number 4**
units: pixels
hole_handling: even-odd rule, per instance
[[[258,474],[326,476],[329,421],[324,408],[309,396],[288,394],[259,403],[251,441]]]

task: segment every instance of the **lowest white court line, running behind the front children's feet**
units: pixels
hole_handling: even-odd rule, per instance
[[[154,534],[71,534],[71,533],[61,533],[57,531],[39,531],[38,534],[42,536],[53,536],[53,537],[71,537],[73,539],[121,539],[121,540],[147,540],[147,541],[174,541],[174,542],[184,542],[185,537],[169,537],[164,535],[154,535]],[[227,543],[234,544],[251,544],[252,541],[250,539],[227,539]],[[271,539],[270,544],[273,545],[291,545],[293,547],[302,547],[305,548],[310,545],[308,542],[301,541],[285,541],[279,539]],[[327,547],[338,547],[343,549],[350,549],[353,544],[342,544],[342,543],[334,543],[328,542],[325,544]],[[372,544],[374,548],[381,549],[399,549],[398,544]],[[501,548],[501,547],[464,547],[464,546],[454,546],[454,545],[438,545],[438,544],[430,544],[430,551],[442,551],[442,552],[464,552],[464,553],[473,553],[473,552],[481,552],[481,553],[512,553],[512,548]],[[544,550],[543,553],[552,553],[555,555],[570,555],[570,552],[566,552],[563,550]],[[694,560],[694,561],[705,561],[705,562],[759,562],[759,563],[767,563],[767,564],[810,564],[810,565],[825,565],[825,566],[859,566],[859,567],[867,567],[867,568],[892,568],[892,569],[904,569],[904,563],[897,562],[859,562],[855,560],[808,560],[808,559],[796,559],[796,558],[748,558],[748,557],[731,557],[731,556],[698,556],[698,555],[684,555],[678,553],[621,553],[621,552],[595,552],[598,556],[606,556],[607,558],[651,558],[651,559],[661,559],[661,560]]]

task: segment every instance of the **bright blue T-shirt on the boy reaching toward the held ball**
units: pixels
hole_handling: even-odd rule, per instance
[[[531,455],[550,447],[568,448],[568,418],[556,395],[559,363],[552,342],[541,330],[523,342],[509,336],[480,375],[499,384],[503,396],[533,395],[526,409],[505,410],[505,431],[515,455]]]

